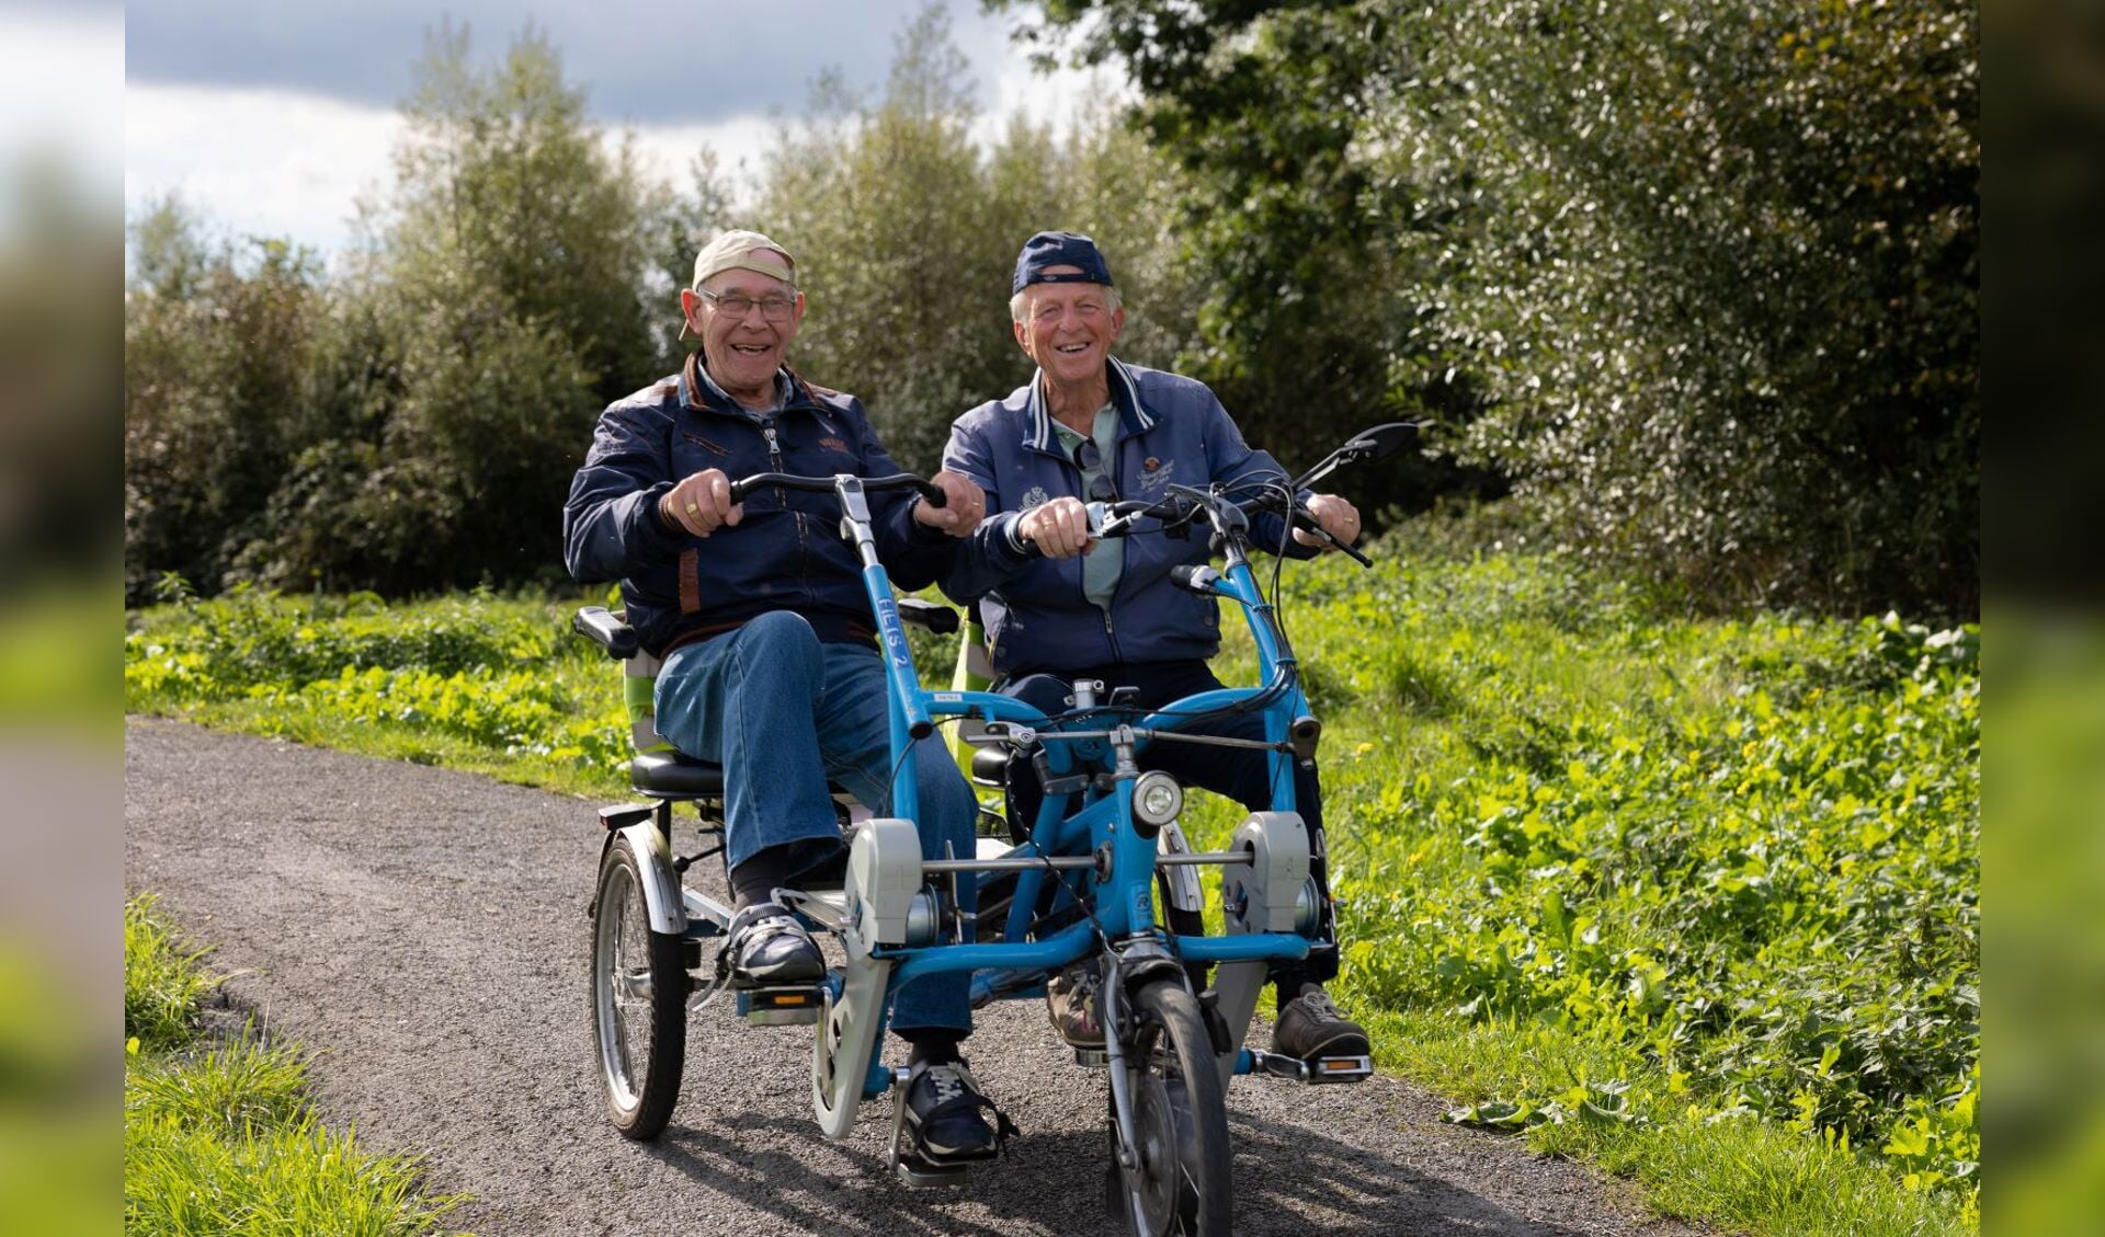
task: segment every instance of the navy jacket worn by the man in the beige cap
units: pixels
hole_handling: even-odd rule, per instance
[[[678,480],[703,469],[722,469],[730,480],[901,471],[863,402],[791,374],[783,410],[756,423],[699,381],[699,364],[697,351],[682,372],[600,414],[562,507],[562,562],[583,583],[621,581],[629,625],[659,656],[768,610],[804,614],[819,640],[874,642],[863,566],[838,534],[834,494],[747,494],[739,524],[707,539],[667,526],[657,511]],[[960,539],[916,524],[911,507],[909,490],[869,494],[878,553],[901,589],[935,583],[960,547]]]

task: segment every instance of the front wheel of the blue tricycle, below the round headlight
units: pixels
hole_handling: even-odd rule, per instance
[[[1212,1037],[1198,999],[1172,980],[1132,997],[1126,1043],[1139,1163],[1120,1176],[1120,1203],[1135,1237],[1229,1231],[1234,1159],[1227,1102]]]

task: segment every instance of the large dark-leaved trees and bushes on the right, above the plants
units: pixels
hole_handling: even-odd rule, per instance
[[[1558,541],[1713,595],[1977,610],[1970,6],[1044,17],[1191,168],[1225,372],[1337,324],[1362,360],[1314,356],[1429,406]]]

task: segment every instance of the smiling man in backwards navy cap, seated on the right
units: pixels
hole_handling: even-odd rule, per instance
[[[1170,583],[1172,566],[1204,562],[1206,541],[1092,541],[1084,503],[1154,499],[1172,482],[1284,480],[1286,471],[1242,440],[1204,383],[1111,356],[1126,309],[1090,238],[1074,231],[1029,238],[1010,292],[1017,345],[1038,362],[1038,372],[1006,400],[960,417],[943,452],[943,467],[970,478],[987,496],[989,515],[943,589],[960,602],[979,602],[1000,675],[996,690],[1052,713],[1078,677],[1137,688],[1145,709],[1219,688],[1206,667],[1221,648],[1219,608]],[[1360,513],[1345,499],[1316,494],[1307,507],[1339,541],[1360,536]],[[1280,545],[1284,528],[1278,515],[1261,515],[1257,532],[1259,545]],[[1318,553],[1318,541],[1301,530],[1292,536],[1295,553]],[[1042,555],[1029,553],[1031,543]],[[1263,722],[1238,717],[1206,732],[1263,738]],[[1255,749],[1160,743],[1141,766],[1252,810],[1271,806],[1265,759]],[[1362,1056],[1366,1031],[1322,989],[1337,974],[1322,797],[1314,770],[1295,776],[1295,802],[1316,841],[1324,942],[1307,961],[1278,964],[1271,972],[1280,1014],[1274,1050],[1303,1060]],[[1042,791],[1021,762],[1008,789],[1013,816],[1036,818]],[[1076,1046],[1103,1043],[1090,987],[1092,976],[1080,970],[1046,989],[1055,1027]]]

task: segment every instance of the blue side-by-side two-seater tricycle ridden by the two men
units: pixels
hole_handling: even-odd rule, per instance
[[[861,1107],[890,1092],[890,1163],[899,1178],[951,1182],[966,1165],[930,1163],[914,1153],[905,1130],[907,1069],[886,1067],[878,1054],[888,993],[926,974],[962,970],[973,976],[975,1006],[1029,999],[1044,995],[1050,976],[1092,961],[1103,1050],[1076,1050],[1076,1058],[1109,1071],[1107,1197],[1116,1218],[1147,1237],[1227,1233],[1231,1081],[1265,1075],[1343,1083],[1372,1073],[1364,1056],[1295,1060],[1244,1043],[1269,966],[1337,945],[1326,938],[1330,917],[1309,873],[1311,839],[1297,812],[1290,768],[1316,757],[1322,726],[1309,711],[1274,597],[1250,566],[1257,549],[1250,518],[1271,511],[1322,536],[1301,507],[1307,486],[1341,465],[1396,452],[1410,431],[1402,423],[1368,429],[1292,482],[1271,475],[1172,484],[1156,501],[1090,505],[1097,536],[1208,536],[1221,566],[1179,566],[1172,579],[1238,606],[1257,646],[1257,684],[1154,711],[1124,703],[1118,684],[1088,680],[1071,684],[1071,709],[1057,715],[996,692],[920,684],[905,623],[956,633],[958,612],[893,595],[867,494],[914,488],[941,503],[941,490],[926,480],[760,473],[735,482],[733,501],[773,486],[838,496],[842,534],[859,549],[886,663],[895,814],[867,816],[836,795],[848,827],[846,871],[781,892],[806,928],[840,942],[842,961],[813,985],[730,982],[722,947],[733,909],[684,881],[695,863],[722,863],[722,770],[661,749],[648,722],[655,661],[617,614],[581,610],[575,629],[627,663],[640,749],[629,776],[646,799],[600,810],[592,1022],[615,1128],[629,1138],[653,1138],[665,1128],[680,1092],[690,1012],[728,997],[747,1022],[813,1027],[810,1100],[827,1138],[846,1138]],[[1339,549],[1370,566],[1356,549]],[[1191,732],[1227,713],[1259,713],[1265,738]],[[1046,793],[1036,820],[981,837],[977,854],[924,860],[914,825],[916,768],[903,757],[939,724],[968,728],[981,785],[1000,785],[1002,766],[1023,759],[1025,776],[1038,776]],[[1250,812],[1225,850],[1191,850],[1179,827],[1183,787],[1139,764],[1158,743],[1261,749],[1271,766],[1269,810]],[[674,808],[682,804],[699,825],[701,850],[693,854],[674,846]],[[1221,877],[1221,934],[1202,930],[1204,869]],[[960,896],[964,881],[975,884],[977,898]],[[960,911],[975,900],[975,913]],[[1194,976],[1206,968],[1212,985],[1198,991]]]

